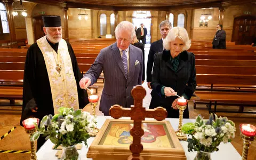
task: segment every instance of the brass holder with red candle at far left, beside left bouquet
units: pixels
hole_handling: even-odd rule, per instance
[[[36,132],[36,128],[34,123],[38,125],[39,119],[38,118],[28,118],[25,119],[22,122],[22,125],[24,126],[26,133],[29,134],[29,141],[30,141],[30,147],[31,147],[31,159],[37,160],[36,157],[36,143],[34,140],[31,140],[30,137]]]

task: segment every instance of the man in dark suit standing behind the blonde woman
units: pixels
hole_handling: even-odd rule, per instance
[[[151,89],[150,83],[152,81],[152,68],[154,63],[154,55],[155,53],[162,52],[164,50],[163,39],[166,38],[171,28],[172,28],[171,22],[166,20],[162,21],[159,24],[159,30],[162,38],[153,42],[150,46],[149,53],[148,53],[148,63],[147,63],[147,82],[148,82],[149,89]]]

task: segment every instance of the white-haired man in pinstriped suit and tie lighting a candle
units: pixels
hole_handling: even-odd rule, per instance
[[[142,81],[142,51],[131,45],[133,24],[122,21],[115,29],[116,42],[102,49],[93,65],[79,82],[82,89],[97,82],[102,70],[104,88],[100,100],[100,111],[109,115],[115,104],[123,107],[133,105],[131,90]]]

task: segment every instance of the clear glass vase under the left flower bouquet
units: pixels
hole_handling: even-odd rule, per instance
[[[61,160],[80,160],[76,146],[62,147]]]

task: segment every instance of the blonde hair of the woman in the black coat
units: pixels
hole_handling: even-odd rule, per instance
[[[170,50],[170,42],[175,41],[175,38],[180,38],[184,46],[182,51],[188,50],[191,46],[191,41],[188,37],[187,30],[183,27],[173,27],[167,37],[164,39],[164,49]]]

